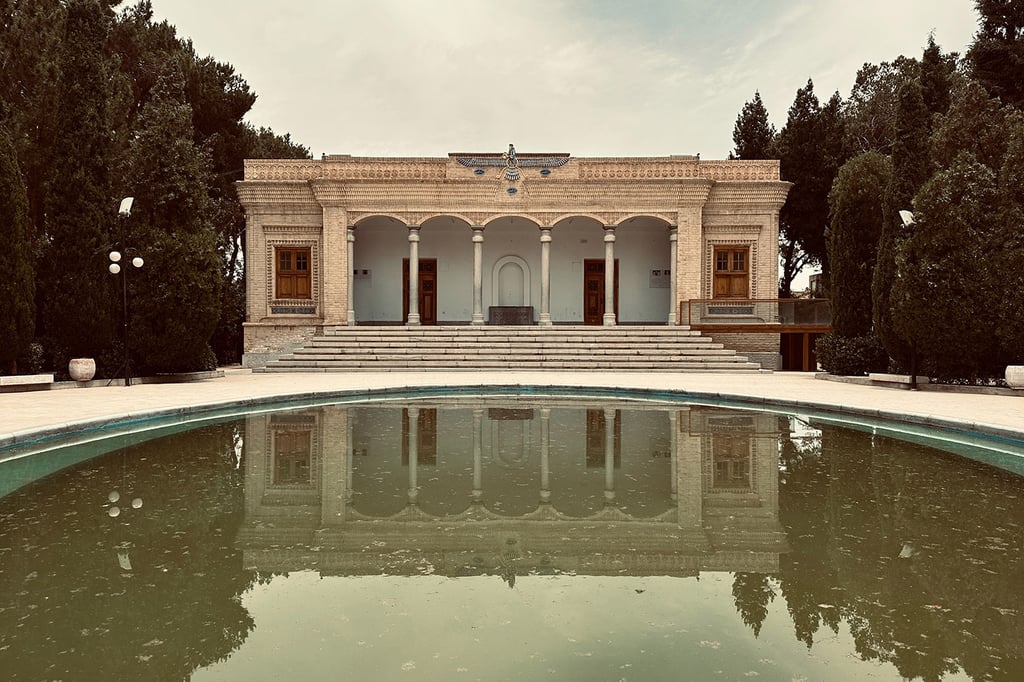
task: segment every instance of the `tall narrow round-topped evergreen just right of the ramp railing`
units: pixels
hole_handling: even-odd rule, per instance
[[[843,164],[828,194],[828,297],[840,336],[871,331],[871,278],[882,236],[882,203],[892,163],[868,152]]]

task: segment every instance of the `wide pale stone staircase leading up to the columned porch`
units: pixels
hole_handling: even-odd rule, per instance
[[[686,327],[328,327],[254,372],[760,372]]]

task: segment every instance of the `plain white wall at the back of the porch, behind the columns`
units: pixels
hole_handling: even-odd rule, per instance
[[[357,322],[401,321],[401,260],[409,257],[409,230],[387,218],[371,218],[355,231],[353,267],[371,270],[371,279],[353,283]],[[591,218],[563,220],[552,231],[551,317],[556,323],[583,322],[584,259],[604,258],[604,229]],[[541,311],[541,231],[524,218],[500,218],[483,231],[483,315],[497,305],[495,266],[508,256],[528,265],[529,304]],[[457,218],[440,217],[420,229],[420,258],[437,259],[437,319],[468,323],[473,313],[472,230]],[[650,270],[670,267],[666,226],[636,218],[615,229],[618,260],[618,319],[663,324],[668,318],[668,288],[651,288]]]

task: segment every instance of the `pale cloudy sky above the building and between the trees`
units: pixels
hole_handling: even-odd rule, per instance
[[[724,159],[755,90],[849,95],[864,62],[963,52],[971,0],[153,0],[259,98],[248,119],[322,154]]]

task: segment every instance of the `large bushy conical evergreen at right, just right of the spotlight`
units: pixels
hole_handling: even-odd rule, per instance
[[[890,304],[894,331],[929,372],[993,376],[1007,364],[994,332],[1005,295],[1019,292],[1005,291],[1005,267],[993,258],[996,204],[995,173],[968,153],[914,201],[915,222],[896,251]]]

